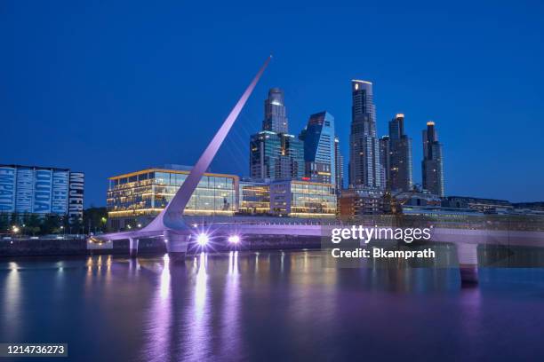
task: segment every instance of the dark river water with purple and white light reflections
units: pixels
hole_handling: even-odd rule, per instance
[[[77,361],[544,360],[544,269],[482,268],[466,288],[455,268],[323,257],[3,259],[0,342],[66,342]]]

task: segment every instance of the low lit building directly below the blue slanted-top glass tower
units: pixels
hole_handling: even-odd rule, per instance
[[[334,217],[334,185],[285,180],[270,184],[270,212],[278,216]]]

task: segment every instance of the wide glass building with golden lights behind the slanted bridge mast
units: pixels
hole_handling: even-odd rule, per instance
[[[150,222],[188,177],[190,168],[167,165],[165,168],[109,177],[108,216],[110,227],[124,229],[128,225]],[[232,216],[238,199],[238,177],[205,173],[196,187],[184,214]]]

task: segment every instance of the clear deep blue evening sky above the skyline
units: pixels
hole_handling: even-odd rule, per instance
[[[444,3],[444,4],[443,4]],[[544,201],[540,1],[0,2],[0,163],[108,177],[192,165],[272,53],[212,171],[247,176],[249,136],[281,87],[292,134],[334,115],[348,160],[350,80],[374,85],[378,134],[405,114],[413,178],[436,122],[445,193]]]

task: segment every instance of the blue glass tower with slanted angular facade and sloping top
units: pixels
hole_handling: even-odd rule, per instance
[[[305,176],[310,181],[335,184],[334,117],[324,111],[310,115],[300,132],[304,141]]]

